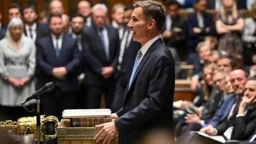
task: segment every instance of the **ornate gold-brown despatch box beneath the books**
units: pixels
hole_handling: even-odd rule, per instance
[[[62,119],[60,121],[57,127],[58,144],[96,144],[93,138],[100,129],[70,126],[70,120]],[[98,144],[101,144],[102,141],[103,139]],[[110,144],[118,144],[118,135],[111,140]]]

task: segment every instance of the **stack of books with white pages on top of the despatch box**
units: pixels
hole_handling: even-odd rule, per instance
[[[72,127],[95,127],[112,121],[110,109],[64,110],[62,118],[69,119]]]

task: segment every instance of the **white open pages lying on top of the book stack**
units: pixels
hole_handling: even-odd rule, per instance
[[[76,109],[64,110],[62,112],[63,118],[82,118],[82,117],[111,117],[110,109]]]

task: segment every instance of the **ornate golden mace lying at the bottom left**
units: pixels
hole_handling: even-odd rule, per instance
[[[44,138],[46,139],[54,139],[57,136],[56,128],[59,124],[58,118],[55,116],[47,116],[45,115],[40,116],[40,141],[43,141]],[[53,135],[47,135],[44,134],[42,131],[42,126],[46,122],[55,122],[55,134]],[[15,132],[15,134],[19,134],[20,132],[24,132],[24,134],[34,134],[35,139],[37,140],[37,134],[36,134],[36,116],[34,117],[23,117],[19,118],[17,122],[13,122],[12,120],[6,120],[4,122],[0,122],[0,130],[12,130]]]

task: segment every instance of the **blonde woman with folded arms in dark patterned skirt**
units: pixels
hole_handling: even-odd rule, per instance
[[[235,0],[222,0],[220,10],[216,15],[216,31],[220,36],[218,50],[230,56],[243,51],[240,31],[244,28],[244,19],[238,12]]]

